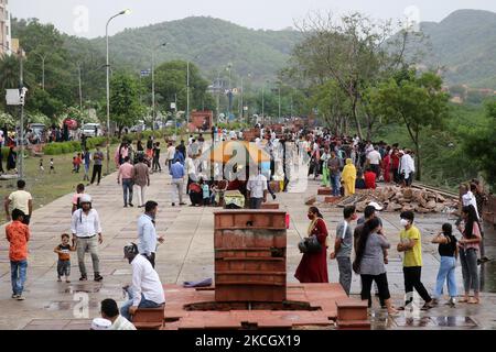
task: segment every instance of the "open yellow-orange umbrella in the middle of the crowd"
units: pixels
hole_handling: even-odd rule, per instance
[[[246,155],[246,165],[250,162],[256,164],[261,164],[265,162],[270,162],[270,155],[260,150],[255,143],[249,143],[245,141],[229,141],[229,142],[220,142],[214,144],[209,153],[212,163],[228,163],[231,158],[235,158],[238,155]]]

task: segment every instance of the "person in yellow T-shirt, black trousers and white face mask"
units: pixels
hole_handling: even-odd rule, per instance
[[[433,307],[434,301],[429,295],[428,290],[421,282],[422,274],[422,243],[420,230],[413,226],[414,215],[412,211],[403,211],[400,215],[401,227],[400,243],[398,243],[398,252],[403,252],[403,278],[406,300],[405,310],[408,305],[413,301],[413,288],[425,301],[422,310],[428,310]]]

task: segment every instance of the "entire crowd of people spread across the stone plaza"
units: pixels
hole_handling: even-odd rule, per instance
[[[165,165],[172,179],[172,206],[184,206],[184,191],[190,196],[192,206],[224,206],[229,208],[248,207],[260,209],[267,202],[273,184],[279,183],[282,191],[288,191],[291,182],[291,165],[293,160],[303,157],[309,164],[309,176],[316,180],[321,177],[321,185],[330,187],[336,197],[349,196],[356,189],[375,188],[377,183],[395,183],[402,187],[410,187],[414,177],[414,153],[398,144],[388,145],[384,142],[373,144],[363,142],[357,136],[334,136],[327,130],[299,132],[274,131],[259,125],[260,135],[256,145],[269,156],[256,167],[235,165],[233,172],[223,178],[216,176],[219,163],[208,163],[202,157],[209,146],[202,134],[196,139],[190,136],[187,142],[179,145],[168,143]],[[233,131],[234,132],[234,131]],[[213,132],[215,141],[238,141],[242,133],[223,131]],[[158,235],[155,218],[158,202],[148,200],[147,188],[150,186],[150,175],[161,173],[161,143],[149,138],[144,143],[123,141],[115,153],[118,167],[117,183],[122,186],[123,206],[133,207],[133,195],[138,195],[138,207],[144,208],[137,222],[138,244],[131,243],[123,249],[126,258],[132,268],[132,282],[123,289],[129,297],[120,308],[112,299],[101,302],[101,319],[95,321],[94,329],[136,329],[130,321],[139,308],[157,308],[165,304],[165,295],[159,275],[155,271],[157,250],[164,242]],[[76,162],[77,160],[77,162]],[[74,172],[79,172],[79,165],[85,166],[85,180],[89,182],[90,162],[94,163],[93,177],[100,183],[104,153],[97,147],[95,153],[84,150],[75,156]],[[0,164],[1,165],[1,164]],[[41,164],[41,167],[43,165]],[[245,167],[242,172],[239,168]],[[238,168],[238,169],[237,169]],[[246,176],[246,178],[240,175]],[[245,201],[229,202],[226,195],[229,191],[239,193]],[[339,284],[347,295],[351,294],[353,275],[359,275],[362,283],[360,297],[371,305],[371,288],[380,298],[380,304],[389,314],[411,308],[413,292],[423,300],[421,309],[431,309],[439,305],[443,287],[446,283],[448,305],[455,307],[457,302],[479,304],[479,277],[477,265],[488,258],[484,255],[484,228],[481,219],[486,198],[477,180],[461,187],[461,218],[453,224],[444,223],[432,243],[438,244],[441,257],[439,274],[432,294],[422,283],[422,234],[416,226],[416,216],[411,211],[401,212],[398,221],[401,231],[398,233],[397,251],[403,255],[405,305],[395,307],[389,292],[387,278],[388,251],[391,248],[379,211],[379,205],[371,202],[366,207],[364,217],[358,218],[354,206],[343,210],[343,219],[335,231],[335,241],[331,242],[331,234],[326,222],[315,207],[309,209],[311,221],[306,238],[300,249],[303,252],[295,277],[301,283],[328,283],[328,260],[336,261],[339,272]],[[18,190],[6,199],[4,210],[11,221],[7,228],[7,240],[10,242],[10,263],[12,280],[12,298],[23,300],[24,283],[28,268],[28,243],[30,241],[30,218],[33,211],[33,198],[25,191],[25,182],[18,182]],[[354,228],[354,222],[357,221]],[[72,199],[71,233],[61,234],[60,243],[55,246],[57,255],[57,280],[71,282],[71,253],[76,253],[79,280],[88,279],[85,265],[86,254],[89,253],[93,263],[95,282],[104,277],[100,271],[99,245],[104,243],[103,227],[98,210],[93,207],[91,197],[85,193],[85,185],[79,184]],[[312,245],[309,245],[312,240]],[[456,262],[462,266],[464,293],[457,299]]]

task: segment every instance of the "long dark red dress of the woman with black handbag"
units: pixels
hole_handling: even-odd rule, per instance
[[[317,220],[312,230],[312,234],[316,234],[319,243],[322,245],[322,251],[319,253],[303,254],[294,277],[302,284],[328,284],[327,248],[325,246],[325,239],[328,234],[324,220]]]

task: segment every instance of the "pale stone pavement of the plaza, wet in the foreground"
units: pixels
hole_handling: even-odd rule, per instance
[[[277,201],[281,209],[291,215],[291,229],[288,231],[288,279],[293,277],[301,258],[298,242],[306,234],[309,221],[308,207],[303,199],[308,195],[316,194],[319,184],[310,182],[306,194],[279,194]],[[137,208],[123,208],[121,187],[116,183],[116,175],[110,175],[101,182],[99,187],[88,187],[87,193],[94,198],[94,207],[98,210],[103,228],[104,244],[100,246],[103,283],[79,283],[79,271],[76,255],[72,258],[72,284],[56,282],[56,254],[53,249],[60,243],[60,235],[69,232],[71,197],[67,195],[56,201],[36,210],[32,218],[32,241],[30,242],[30,257],[28,268],[28,283],[25,301],[10,298],[10,266],[8,261],[7,241],[0,239],[0,329],[85,329],[86,321],[98,317],[99,301],[114,298],[123,301],[121,286],[130,282],[130,265],[122,258],[122,248],[137,238],[136,223],[141,213]],[[147,199],[159,202],[157,228],[159,234],[165,235],[165,243],[157,254],[157,270],[164,284],[179,284],[185,280],[204,279],[214,276],[214,217],[215,208],[172,208],[170,176],[166,172],[151,176],[151,187],[147,190]],[[335,233],[342,210],[323,206],[330,232]],[[399,216],[384,213],[381,218],[385,231],[391,241],[392,248],[398,243]],[[432,290],[439,266],[436,249],[431,245],[430,239],[438,231],[445,215],[421,216],[417,223],[423,234],[422,272],[423,283]],[[3,231],[3,229],[2,229]],[[334,239],[333,239],[334,240]],[[492,233],[488,256],[496,257],[495,235]],[[403,286],[401,258],[396,250],[390,251],[388,265],[388,279],[390,290],[397,305],[400,305]],[[86,264],[91,273],[89,255]],[[330,261],[330,278],[337,282],[336,262]],[[485,271],[486,290],[495,292],[493,263],[482,268]],[[462,284],[461,273],[457,273],[459,285]],[[359,294],[359,277],[354,275],[352,294]],[[89,311],[80,309],[85,300],[89,304]],[[377,307],[377,302],[375,302]],[[435,308],[421,315],[420,319],[412,321],[402,317],[389,319],[380,309],[371,310],[375,329],[439,329],[441,327],[485,328],[495,329],[496,323],[496,295],[485,293],[482,295],[482,305],[459,305],[455,309]],[[83,314],[83,315],[82,315]]]

